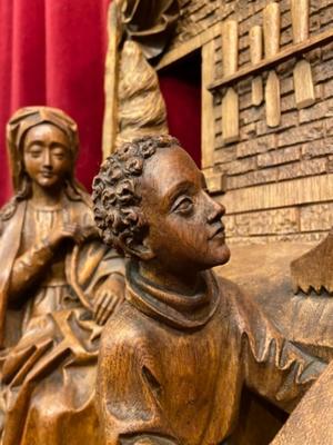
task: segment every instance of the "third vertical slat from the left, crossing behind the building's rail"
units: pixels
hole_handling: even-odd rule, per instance
[[[265,57],[271,58],[280,49],[280,4],[270,3],[264,9],[264,46]],[[278,127],[281,122],[280,80],[274,70],[269,72],[265,88],[266,122]]]

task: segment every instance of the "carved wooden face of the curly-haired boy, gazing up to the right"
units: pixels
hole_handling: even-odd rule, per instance
[[[145,241],[167,268],[195,271],[229,260],[224,208],[208,195],[202,172],[182,148],[158,150],[147,161],[140,195]]]

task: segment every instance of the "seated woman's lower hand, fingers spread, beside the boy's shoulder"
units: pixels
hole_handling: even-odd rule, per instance
[[[124,298],[124,279],[118,274],[111,275],[97,293],[93,316],[99,325],[104,325]]]

